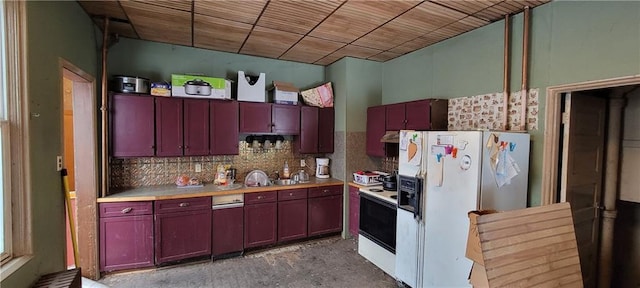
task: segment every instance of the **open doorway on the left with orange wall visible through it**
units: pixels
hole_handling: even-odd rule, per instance
[[[95,80],[73,64],[60,59],[62,91],[63,165],[69,174],[69,190],[75,194],[72,201],[75,236],[78,243],[79,263],[85,277],[97,279],[97,209],[98,147],[97,101]],[[66,213],[65,213],[66,215]],[[70,235],[70,234],[67,234]],[[70,240],[68,236],[68,240]],[[69,245],[67,246],[69,249]],[[73,248],[71,247],[73,250]],[[67,251],[72,252],[73,251]],[[72,253],[67,253],[71,260]],[[68,262],[67,262],[68,263]],[[68,263],[71,264],[71,263]]]

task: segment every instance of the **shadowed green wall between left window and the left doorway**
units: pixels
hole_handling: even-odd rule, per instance
[[[40,275],[66,269],[64,193],[55,166],[63,151],[58,61],[64,58],[92,76],[98,72],[93,25],[77,2],[29,1],[26,7],[34,257],[2,279],[2,287],[30,287]]]

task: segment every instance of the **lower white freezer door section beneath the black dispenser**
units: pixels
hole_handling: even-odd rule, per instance
[[[396,225],[396,279],[417,287],[418,222],[413,213],[398,209]]]

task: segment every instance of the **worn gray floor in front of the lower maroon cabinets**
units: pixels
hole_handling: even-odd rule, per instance
[[[331,237],[242,257],[110,274],[109,287],[397,287],[358,254],[353,239]]]

